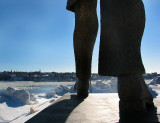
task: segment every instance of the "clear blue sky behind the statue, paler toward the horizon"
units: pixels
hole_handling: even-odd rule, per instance
[[[142,60],[147,73],[160,73],[160,0],[143,2],[146,27]],[[0,71],[75,72],[75,19],[74,13],[66,10],[66,3],[67,0],[0,0]],[[92,58],[93,73],[98,71],[99,32]]]

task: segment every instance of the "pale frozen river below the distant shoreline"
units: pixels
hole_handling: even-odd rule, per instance
[[[104,81],[108,83],[111,80]],[[151,80],[145,80],[146,83]],[[71,87],[75,82],[33,82],[33,81],[0,81],[0,91],[5,90],[8,87],[16,89],[26,89],[30,93],[48,93],[51,90],[54,90],[57,86],[65,85]],[[96,81],[92,81],[92,84],[95,84]]]

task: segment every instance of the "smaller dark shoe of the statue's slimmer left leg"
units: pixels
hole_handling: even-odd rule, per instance
[[[74,85],[74,90],[77,91],[77,96],[81,98],[88,97],[89,81],[77,80]]]

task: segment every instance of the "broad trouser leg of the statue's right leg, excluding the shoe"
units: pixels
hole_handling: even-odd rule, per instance
[[[99,74],[144,74],[140,47],[145,27],[141,0],[101,0]]]

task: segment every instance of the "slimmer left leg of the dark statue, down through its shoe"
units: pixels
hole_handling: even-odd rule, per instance
[[[97,0],[77,0],[75,13],[74,54],[76,63],[77,94],[88,96],[91,77],[92,52],[98,31]]]

